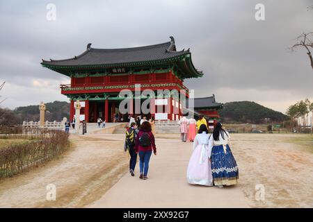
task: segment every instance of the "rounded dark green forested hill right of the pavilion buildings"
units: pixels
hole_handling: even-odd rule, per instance
[[[219,110],[221,121],[232,123],[263,123],[264,119],[279,122],[288,117],[281,112],[271,110],[255,102],[240,101],[223,104],[223,110]]]

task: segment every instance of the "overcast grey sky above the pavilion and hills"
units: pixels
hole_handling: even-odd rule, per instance
[[[56,20],[48,21],[48,3]],[[255,5],[265,6],[265,21]],[[41,59],[77,56],[94,48],[168,42],[191,49],[202,78],[185,81],[195,96],[218,102],[255,101],[285,112],[300,99],[313,101],[313,71],[304,50],[289,51],[300,33],[313,31],[312,0],[289,1],[1,1],[1,105],[67,101],[60,84],[70,78],[43,68]]]

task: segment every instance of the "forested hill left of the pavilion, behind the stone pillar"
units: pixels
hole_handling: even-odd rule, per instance
[[[45,103],[45,121],[61,121],[63,117],[68,119],[70,114],[70,103],[54,101],[53,103]],[[22,121],[39,121],[39,105],[28,105],[18,107],[13,110],[17,114],[18,119]]]

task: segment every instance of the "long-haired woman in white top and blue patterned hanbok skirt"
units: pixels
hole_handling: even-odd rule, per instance
[[[230,134],[223,129],[221,123],[217,123],[209,139],[211,152],[211,171],[214,185],[236,185],[239,179],[239,169],[230,150]]]

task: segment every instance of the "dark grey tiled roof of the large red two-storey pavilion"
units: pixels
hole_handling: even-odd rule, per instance
[[[42,65],[79,66],[79,65],[109,65],[118,63],[147,62],[165,60],[190,53],[176,51],[175,40],[170,42],[126,49],[94,49],[88,44],[86,51],[79,56],[66,60],[42,60]]]

